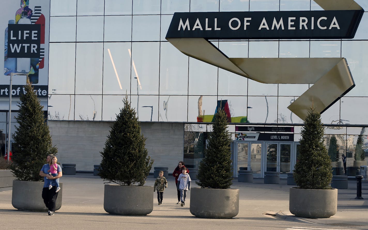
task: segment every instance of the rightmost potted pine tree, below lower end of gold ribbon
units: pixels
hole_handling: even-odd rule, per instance
[[[332,180],[331,159],[323,145],[321,114],[312,106],[301,131],[300,155],[294,169],[299,188],[329,189]]]

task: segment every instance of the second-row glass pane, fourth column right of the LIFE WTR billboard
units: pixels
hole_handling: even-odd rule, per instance
[[[133,41],[159,41],[160,15],[133,16]]]

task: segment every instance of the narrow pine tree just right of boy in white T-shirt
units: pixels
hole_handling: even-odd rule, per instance
[[[217,110],[213,131],[209,135],[206,155],[199,164],[196,183],[202,188],[229,188],[232,182],[231,134],[227,131],[227,116]]]

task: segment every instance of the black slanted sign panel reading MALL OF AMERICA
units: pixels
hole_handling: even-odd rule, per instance
[[[175,13],[166,38],[354,38],[364,10]]]

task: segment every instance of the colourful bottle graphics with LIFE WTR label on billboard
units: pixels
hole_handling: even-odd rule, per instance
[[[39,69],[44,67],[45,16],[41,6],[29,7],[29,0],[21,0],[15,20],[5,29],[4,75],[11,72],[28,73],[33,84],[38,84]]]

